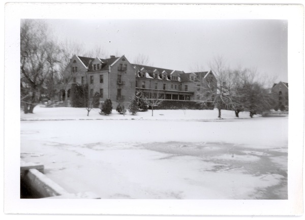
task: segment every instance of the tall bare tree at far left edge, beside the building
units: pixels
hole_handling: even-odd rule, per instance
[[[20,29],[21,102],[25,113],[33,113],[47,79],[59,71],[60,50],[48,39],[41,21],[22,20]],[[53,75],[53,77],[52,77]]]

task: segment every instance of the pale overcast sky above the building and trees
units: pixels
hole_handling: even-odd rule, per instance
[[[288,82],[286,20],[46,21],[60,41],[102,46],[106,54],[126,55],[130,62],[144,54],[155,67],[208,71],[208,63],[223,56],[231,68],[255,68]]]

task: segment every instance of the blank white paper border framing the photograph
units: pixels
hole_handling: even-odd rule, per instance
[[[20,90],[20,19],[24,18],[288,20],[290,110],[288,200],[20,199],[18,91]],[[5,213],[110,215],[301,215],[303,213],[303,5],[9,3],[5,8],[5,19]]]

